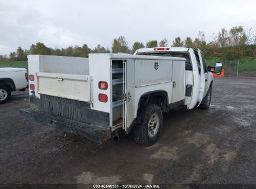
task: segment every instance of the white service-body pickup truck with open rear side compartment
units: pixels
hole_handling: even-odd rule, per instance
[[[152,145],[163,112],[179,106],[207,109],[211,103],[213,77],[200,50],[159,47],[135,55],[28,59],[31,106],[21,115],[99,143],[118,139],[123,129],[136,142]]]

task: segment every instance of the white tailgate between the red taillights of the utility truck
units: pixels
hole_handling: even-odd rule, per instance
[[[37,93],[88,102],[91,99],[90,76],[39,72]]]

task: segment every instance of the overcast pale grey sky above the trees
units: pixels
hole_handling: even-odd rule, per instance
[[[113,39],[209,41],[220,29],[242,25],[256,30],[255,0],[0,0],[0,54],[42,42],[52,48],[98,44],[111,50]]]

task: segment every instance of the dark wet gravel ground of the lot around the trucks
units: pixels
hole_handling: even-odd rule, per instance
[[[216,78],[211,108],[165,114],[151,147],[49,129],[19,116],[28,107],[28,92],[0,105],[2,184],[256,184],[256,78]]]

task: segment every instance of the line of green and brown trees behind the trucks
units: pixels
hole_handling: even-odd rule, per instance
[[[111,51],[102,45],[95,48],[89,48],[87,44],[82,47],[75,45],[67,48],[50,48],[45,44],[38,42],[32,44],[29,50],[18,47],[16,52],[11,52],[9,56],[0,55],[0,60],[27,60],[27,55],[59,55],[71,57],[88,57],[89,53],[134,53],[138,48],[150,47],[189,47],[199,48],[206,58],[221,57],[224,60],[239,58],[242,56],[256,57],[256,34],[252,28],[245,30],[242,26],[232,27],[229,31],[225,28],[221,29],[217,35],[212,37],[210,42],[206,42],[206,34],[204,31],[198,32],[196,39],[186,37],[175,37],[173,42],[169,44],[166,37],[163,40],[149,40],[146,44],[136,41],[132,47],[128,46],[128,42],[124,36],[113,39]]]

